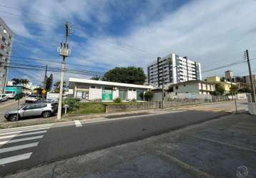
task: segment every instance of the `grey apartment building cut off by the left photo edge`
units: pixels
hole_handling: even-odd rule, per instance
[[[11,56],[11,46],[14,41],[14,33],[0,17],[0,91],[4,91],[6,85],[7,70]]]

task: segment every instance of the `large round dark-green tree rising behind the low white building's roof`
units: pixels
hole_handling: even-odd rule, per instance
[[[127,68],[114,68],[104,74],[102,80],[118,83],[132,83],[143,85],[147,76],[144,74],[142,68],[127,67]]]

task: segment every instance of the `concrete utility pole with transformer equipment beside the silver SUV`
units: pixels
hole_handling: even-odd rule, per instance
[[[61,83],[59,85],[59,105],[58,105],[58,114],[57,114],[57,120],[61,120],[61,108],[62,108],[62,93],[63,93],[63,83],[64,83],[64,70],[65,70],[65,63],[66,63],[66,57],[69,56],[70,50],[69,50],[69,44],[67,43],[67,38],[70,33],[69,23],[65,24],[66,27],[66,34],[65,34],[65,41],[61,46],[58,48],[59,55],[62,56],[62,62],[61,62]]]

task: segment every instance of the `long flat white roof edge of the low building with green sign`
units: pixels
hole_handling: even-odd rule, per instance
[[[71,85],[71,87],[72,87],[72,83],[85,83],[85,84],[92,84],[92,85],[108,85],[108,86],[127,87],[127,88],[145,88],[145,89],[153,88],[151,85],[135,85],[135,84],[129,84],[129,83],[107,82],[107,81],[102,81],[102,80],[69,78],[69,85]]]

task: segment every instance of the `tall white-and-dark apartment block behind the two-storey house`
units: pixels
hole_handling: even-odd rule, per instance
[[[164,58],[157,58],[157,61],[147,66],[149,85],[154,87],[162,86],[163,75],[164,84],[202,80],[201,64],[190,61],[187,57],[182,58],[172,53]]]

